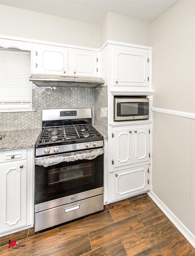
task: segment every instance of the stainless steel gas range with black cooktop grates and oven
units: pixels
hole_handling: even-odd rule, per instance
[[[104,140],[91,109],[42,111],[35,143],[35,232],[103,210]]]

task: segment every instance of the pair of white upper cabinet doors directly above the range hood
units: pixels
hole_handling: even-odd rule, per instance
[[[97,76],[98,53],[59,46],[33,45],[33,73]]]

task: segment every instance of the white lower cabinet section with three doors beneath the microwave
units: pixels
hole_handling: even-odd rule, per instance
[[[109,140],[108,202],[149,190],[151,121],[112,123]]]

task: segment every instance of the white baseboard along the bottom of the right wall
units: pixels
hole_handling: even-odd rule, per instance
[[[189,243],[195,248],[195,236],[188,230],[183,223],[165,206],[165,204],[152,192],[147,192],[151,199],[158,205],[161,211],[167,216],[167,218],[176,226],[176,228],[182,233],[182,235],[188,240]]]

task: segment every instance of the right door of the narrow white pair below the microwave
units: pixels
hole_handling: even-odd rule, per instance
[[[133,163],[149,160],[149,127],[133,128]]]

